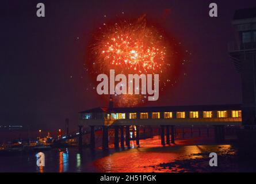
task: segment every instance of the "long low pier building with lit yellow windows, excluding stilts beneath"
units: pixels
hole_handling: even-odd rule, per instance
[[[241,105],[99,107],[79,113],[81,125],[233,125],[242,121]]]

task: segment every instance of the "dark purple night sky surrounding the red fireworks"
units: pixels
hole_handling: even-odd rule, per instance
[[[39,2],[45,3],[44,18],[36,17]],[[217,18],[208,16],[211,2],[218,5]],[[234,39],[235,10],[255,6],[255,0],[1,1],[0,124],[58,129],[70,118],[76,128],[79,111],[106,105],[95,91],[86,91],[86,45],[102,16],[122,11],[159,20],[192,52],[187,75],[150,105],[240,103],[240,75],[227,44]],[[166,9],[170,14],[162,20]]]

